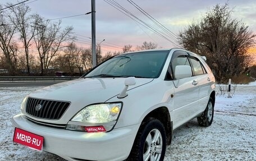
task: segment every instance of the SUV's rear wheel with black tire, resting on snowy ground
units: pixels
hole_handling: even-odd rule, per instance
[[[210,97],[204,112],[199,117],[197,117],[199,125],[204,127],[210,126],[213,121],[213,114],[214,114],[214,102],[213,102],[213,99]]]

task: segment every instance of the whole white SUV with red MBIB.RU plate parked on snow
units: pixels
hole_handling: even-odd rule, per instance
[[[213,121],[205,59],[177,48],[115,56],[29,94],[12,119],[13,141],[67,160],[163,160],[173,130],[195,117],[200,126]]]

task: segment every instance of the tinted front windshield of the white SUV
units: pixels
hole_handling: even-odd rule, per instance
[[[159,77],[169,50],[122,54],[102,63],[85,77]]]

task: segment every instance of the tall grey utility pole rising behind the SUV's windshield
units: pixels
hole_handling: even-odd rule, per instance
[[[93,67],[96,66],[96,36],[95,36],[95,0],[92,0],[92,58]]]

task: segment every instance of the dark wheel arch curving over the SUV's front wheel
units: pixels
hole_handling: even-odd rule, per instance
[[[171,122],[171,116],[167,107],[159,107],[149,112],[144,117],[143,121],[147,121],[149,118],[156,118],[163,123],[164,129],[166,130],[166,144],[170,145],[172,140],[173,126]]]

